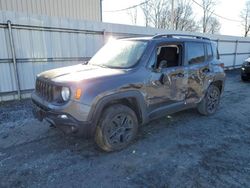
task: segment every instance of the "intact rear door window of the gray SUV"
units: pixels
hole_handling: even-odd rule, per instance
[[[190,42],[187,44],[188,64],[198,64],[205,61],[205,50],[203,43]]]

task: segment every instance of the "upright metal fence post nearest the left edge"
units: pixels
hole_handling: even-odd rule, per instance
[[[19,76],[18,76],[18,70],[17,70],[16,52],[15,52],[13,34],[12,34],[12,29],[11,29],[11,21],[8,20],[7,24],[8,24],[9,38],[10,38],[11,54],[12,54],[12,59],[13,59],[14,71],[15,71],[15,80],[16,80],[16,86],[17,86],[17,96],[18,96],[18,100],[20,100],[21,99],[20,82],[19,82]]]

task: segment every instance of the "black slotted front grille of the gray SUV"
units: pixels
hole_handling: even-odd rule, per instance
[[[56,86],[41,79],[36,80],[36,93],[46,101],[53,101]]]

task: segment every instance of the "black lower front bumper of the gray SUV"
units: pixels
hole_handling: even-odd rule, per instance
[[[79,121],[72,115],[63,111],[54,111],[35,100],[33,101],[33,114],[39,120],[46,120],[55,125],[66,134],[78,134],[84,137],[90,137],[94,133],[94,126],[88,121]]]

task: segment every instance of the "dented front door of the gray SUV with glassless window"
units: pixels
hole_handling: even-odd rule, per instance
[[[182,64],[183,51],[182,43],[168,43],[158,46],[151,57],[147,101],[152,116],[172,112],[185,102],[188,69]]]

